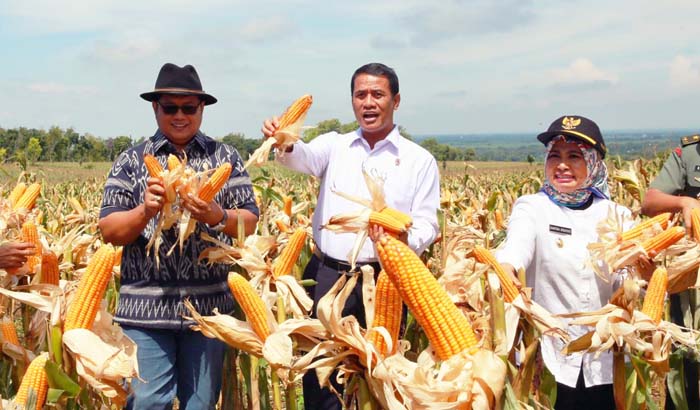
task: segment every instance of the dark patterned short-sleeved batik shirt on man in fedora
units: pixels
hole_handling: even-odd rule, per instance
[[[161,165],[175,147],[160,132],[142,144],[123,152],[112,165],[105,184],[100,218],[112,212],[128,211],[143,203],[148,171],[143,163],[144,154],[154,155]],[[187,165],[195,171],[211,169],[230,162],[233,171],[214,201],[224,209],[247,209],[259,215],[255,197],[243,162],[235,148],[197,133],[185,147]],[[180,154],[182,157],[182,154]],[[124,246],[121,261],[121,287],[115,320],[120,324],[161,328],[187,328],[183,302],[189,299],[197,311],[210,315],[214,308],[221,313],[233,310],[233,298],[226,284],[228,265],[198,262],[202,250],[213,246],[200,239],[202,233],[231,243],[224,233],[212,230],[207,224],[197,223],[196,230],[184,243],[182,251],[177,242],[177,224],[162,232],[160,264],[156,266],[154,250],[146,253],[146,245],[156,227],[158,216],[153,217],[141,235]]]

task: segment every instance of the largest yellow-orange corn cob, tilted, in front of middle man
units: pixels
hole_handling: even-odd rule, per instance
[[[389,235],[382,236],[376,245],[382,267],[425,330],[435,354],[446,360],[475,348],[476,335],[469,320],[420,258],[403,242]]]

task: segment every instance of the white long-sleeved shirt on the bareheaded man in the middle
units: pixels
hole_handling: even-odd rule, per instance
[[[331,189],[370,199],[362,169],[385,178],[388,206],[413,218],[408,245],[421,254],[437,237],[437,210],[440,206],[439,173],[435,158],[420,145],[402,137],[398,127],[370,149],[361,130],[338,134],[330,132],[308,144],[298,141],[292,152],[277,154],[277,161],[295,171],[321,178],[318,203],[313,215],[313,235],[326,255],[348,260],[356,234],[322,230],[321,225],[335,215],[360,210],[362,205],[334,194]],[[376,261],[368,239],[357,258]]]

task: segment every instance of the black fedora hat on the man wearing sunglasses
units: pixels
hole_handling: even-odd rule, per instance
[[[191,65],[178,67],[172,63],[165,63],[160,68],[156,86],[153,91],[141,94],[146,101],[156,101],[162,94],[196,95],[204,101],[204,105],[214,104],[217,100],[214,96],[202,90],[197,70]]]

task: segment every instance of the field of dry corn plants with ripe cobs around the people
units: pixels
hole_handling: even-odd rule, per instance
[[[349,409],[551,408],[556,384],[538,360],[544,333],[565,340],[569,352],[613,352],[618,409],[660,409],[668,400],[683,408],[678,369],[682,355],[697,352],[696,291],[686,298],[683,327],[670,323],[667,301],[669,293],[695,286],[700,247],[679,227],[679,216],[639,216],[663,159],[608,164],[613,201],[630,208],[637,223],[649,222],[634,232],[622,232],[614,218],[598,227],[591,257],[631,274],[603,309],[570,315],[591,329],[577,340],[492,256],[515,200],[540,189],[542,167],[451,164],[442,175],[435,243],[418,258],[384,236],[377,243],[383,272],[364,266],[361,275],[341,278],[314,319],[301,273],[312,254],[318,181],[275,164],[253,168],[257,233],[239,234],[232,245],[204,238],[212,243],[209,262],[230,265],[238,311],[202,316],[187,306],[195,329],[230,346],[218,408],[302,409],[301,377],[310,369],[327,385],[333,370],[342,375]],[[174,175],[186,175],[174,171],[178,166],[155,172],[174,182]],[[48,182],[50,171],[13,174],[5,172],[0,195],[3,242],[30,241],[38,252],[21,268],[0,271],[2,406],[121,408],[138,367],[133,342],[111,316],[121,251],[104,244],[97,227],[106,171],[63,182]],[[370,222],[394,234],[410,229],[410,217],[361,208],[352,227],[358,235]],[[350,228],[340,221],[337,229]],[[650,284],[635,274],[641,255],[657,268]],[[341,315],[358,281],[366,328]],[[403,305],[409,313],[400,326]]]

